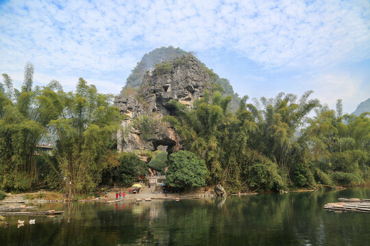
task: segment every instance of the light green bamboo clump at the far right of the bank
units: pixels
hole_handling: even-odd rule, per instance
[[[343,115],[341,100],[336,106],[336,111],[322,107],[304,130],[312,165],[321,169],[315,177],[321,183],[324,178],[336,184],[359,184],[369,179],[370,120],[367,113]]]

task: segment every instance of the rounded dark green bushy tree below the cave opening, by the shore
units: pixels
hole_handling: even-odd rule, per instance
[[[169,157],[166,183],[171,187],[204,187],[206,163],[188,151],[180,150]]]

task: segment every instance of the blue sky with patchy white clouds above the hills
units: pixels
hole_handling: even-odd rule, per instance
[[[0,0],[0,73],[34,84],[78,78],[119,94],[145,53],[193,51],[249,98],[279,92],[351,113],[370,98],[370,1]]]

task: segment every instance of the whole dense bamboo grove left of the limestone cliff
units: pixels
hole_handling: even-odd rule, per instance
[[[3,74],[0,92],[0,184],[7,191],[49,186],[73,195],[95,189],[116,146],[112,139],[121,115],[112,96],[79,79],[76,92],[58,81],[32,87],[34,66],[25,66],[20,92]],[[53,155],[39,147],[50,141]],[[40,157],[42,160],[40,160]]]

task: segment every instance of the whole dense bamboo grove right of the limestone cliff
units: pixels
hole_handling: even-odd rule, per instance
[[[173,102],[164,120],[206,162],[208,184],[278,190],[369,180],[369,118],[341,115],[340,100],[333,111],[310,94],[280,93],[254,104],[245,96],[232,113],[230,96],[206,93],[191,110]],[[317,115],[308,118],[312,110]]]

